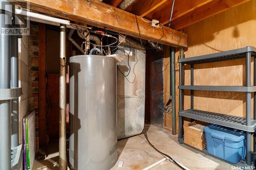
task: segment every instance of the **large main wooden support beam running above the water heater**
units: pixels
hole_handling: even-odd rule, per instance
[[[164,36],[162,29],[151,27],[149,23],[144,22],[140,17],[134,14],[120,10],[108,4],[91,0],[88,6],[83,0],[24,0],[30,3],[30,10],[45,13],[48,15],[69,19],[81,23],[86,23],[98,28],[116,31],[142,39],[151,40],[174,46],[186,47],[187,35],[179,31],[164,27]],[[20,3],[20,5],[24,5]],[[138,27],[139,26],[139,31]],[[162,37],[161,40],[159,40]]]

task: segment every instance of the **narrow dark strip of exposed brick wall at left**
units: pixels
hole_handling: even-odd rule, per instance
[[[29,39],[29,108],[35,109],[36,151],[39,150],[39,123],[38,123],[38,26],[30,25]]]

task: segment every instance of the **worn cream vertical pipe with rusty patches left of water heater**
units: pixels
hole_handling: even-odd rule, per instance
[[[60,25],[59,169],[66,170],[66,25]]]

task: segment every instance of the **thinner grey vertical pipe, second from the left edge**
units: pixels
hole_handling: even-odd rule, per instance
[[[18,87],[18,37],[11,36],[11,88]],[[11,102],[12,147],[18,146],[18,98]]]

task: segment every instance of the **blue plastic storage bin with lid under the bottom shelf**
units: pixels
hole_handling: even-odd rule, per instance
[[[231,163],[245,158],[245,133],[218,125],[204,127],[206,149],[211,155]]]

